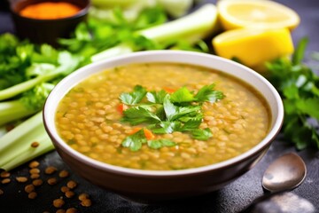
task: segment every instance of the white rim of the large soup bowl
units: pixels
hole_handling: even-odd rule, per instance
[[[276,109],[277,109],[277,116],[275,118],[276,121],[273,121],[273,126],[269,128],[268,134],[265,138],[261,140],[256,146],[253,146],[253,148],[249,149],[243,154],[239,154],[233,158],[230,158],[229,160],[222,161],[222,162],[217,162],[214,164],[209,164],[206,166],[201,166],[198,168],[191,168],[191,169],[185,169],[185,170],[138,170],[138,169],[129,169],[129,168],[124,168],[121,166],[115,166],[112,164],[108,164],[106,162],[99,162],[97,160],[94,160],[92,158],[89,158],[88,156],[81,154],[77,151],[75,151],[71,146],[68,146],[66,142],[63,141],[62,138],[58,136],[58,132],[55,129],[55,124],[54,124],[54,116],[56,112],[56,107],[51,108],[51,106],[54,104],[54,102],[58,102],[60,99],[62,99],[66,92],[69,91],[71,88],[74,87],[79,82],[82,82],[85,78],[89,77],[89,75],[101,72],[105,69],[100,69],[99,71],[94,71],[94,69],[97,69],[97,67],[103,67],[108,64],[112,64],[114,61],[122,61],[122,60],[130,60],[130,59],[136,59],[136,58],[143,58],[143,57],[151,57],[151,56],[159,56],[159,55],[180,55],[180,56],[189,56],[189,57],[204,57],[211,59],[213,61],[219,61],[220,63],[223,64],[230,64],[232,67],[238,67],[241,69],[244,69],[245,72],[247,72],[249,75],[254,75],[258,80],[260,80],[262,83],[266,85],[269,91],[271,91],[271,94],[274,96],[275,101],[276,101]],[[169,58],[169,57],[168,57]],[[167,61],[163,62],[169,62],[167,58]],[[151,62],[152,60],[150,60]],[[132,62],[134,63],[134,62]],[[140,61],[136,61],[136,63],[143,63]],[[178,62],[176,62],[178,63]],[[125,65],[131,64],[131,63],[124,63]],[[191,63],[193,64],[193,63]],[[196,63],[194,63],[196,65]],[[112,66],[111,66],[112,67]],[[113,66],[114,67],[114,66]],[[212,66],[213,68],[214,66]],[[85,72],[88,72],[88,70],[93,70],[89,72],[89,75],[85,75],[85,77],[81,78],[81,80],[76,81],[76,83],[73,83],[70,85],[68,82],[72,82],[72,79],[74,77],[76,78],[77,75],[83,75]],[[244,72],[244,71],[243,71]],[[236,77],[236,76],[235,76]],[[240,79],[240,78],[239,78]],[[241,79],[244,81],[243,79]],[[246,81],[244,81],[247,83]],[[68,85],[67,85],[68,84]],[[250,84],[250,83],[248,83]],[[63,89],[64,86],[67,85],[67,89]],[[252,85],[252,84],[250,84]],[[257,89],[256,87],[253,87],[254,89]],[[62,97],[59,97],[58,101],[57,99],[54,99],[54,96],[56,96],[57,92],[59,90],[64,91],[64,94]],[[263,94],[261,94],[263,95]],[[60,95],[59,95],[60,96]],[[264,97],[266,99],[266,97]],[[268,99],[266,99],[268,102]],[[268,105],[269,102],[268,102]],[[58,106],[58,104],[57,104]],[[270,107],[270,106],[269,106]],[[54,111],[54,113],[52,113]],[[273,113],[273,112],[270,112]],[[271,115],[273,117],[273,115]],[[270,121],[271,122],[271,121]],[[237,164],[239,162],[245,162],[245,160],[253,157],[255,154],[258,154],[262,150],[265,150],[272,142],[274,138],[276,138],[276,135],[279,133],[281,130],[281,127],[284,122],[284,106],[282,99],[279,95],[279,93],[276,91],[275,87],[266,80],[261,74],[253,71],[253,69],[249,67],[245,67],[244,65],[241,65],[235,61],[232,61],[230,59],[224,59],[219,56],[207,54],[207,53],[201,53],[201,52],[194,52],[194,51],[171,51],[171,50],[164,50],[164,51],[139,51],[139,52],[133,52],[133,53],[128,53],[125,55],[113,57],[111,59],[103,59],[101,61],[94,62],[92,64],[89,64],[87,66],[81,67],[77,70],[75,70],[72,74],[67,75],[64,79],[62,79],[56,86],[55,88],[51,91],[50,95],[45,101],[45,104],[43,106],[43,124],[44,128],[49,134],[49,136],[52,138],[52,142],[54,146],[58,146],[60,149],[63,149],[66,154],[71,155],[72,157],[76,158],[78,161],[83,162],[83,163],[89,163],[90,166],[100,169],[100,170],[108,170],[112,171],[113,173],[118,173],[118,174],[126,174],[130,176],[139,176],[139,177],[170,177],[170,176],[185,176],[185,175],[194,175],[195,173],[202,173],[202,172],[207,172],[210,170],[221,170],[222,168],[228,168],[234,164]]]

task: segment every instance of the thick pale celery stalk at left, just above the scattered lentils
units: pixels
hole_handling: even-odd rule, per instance
[[[39,146],[32,147],[33,142],[38,142]],[[12,170],[52,149],[42,112],[37,113],[0,138],[0,169]]]

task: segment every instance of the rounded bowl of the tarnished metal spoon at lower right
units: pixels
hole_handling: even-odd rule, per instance
[[[306,174],[306,164],[299,155],[284,154],[268,166],[262,186],[271,193],[289,190],[300,185]]]

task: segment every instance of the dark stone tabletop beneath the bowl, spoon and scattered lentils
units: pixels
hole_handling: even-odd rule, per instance
[[[1,2],[3,3],[3,0]],[[206,2],[215,3],[215,1],[203,1],[203,3]],[[310,42],[307,49],[307,57],[312,51],[319,51],[319,1],[278,0],[277,2],[290,6],[300,14],[300,27],[292,32],[294,43],[297,43],[301,37],[308,36]],[[0,6],[0,8],[4,7]],[[8,12],[0,10],[0,33],[4,32],[13,32],[12,20]],[[285,200],[269,199],[256,205],[253,212],[269,212],[270,207],[276,210],[274,212],[319,212],[319,152],[313,148],[297,151],[291,144],[284,142],[280,136],[276,138],[268,153],[253,170],[248,171],[230,185],[222,188],[222,190],[197,198],[160,205],[145,205],[126,201],[117,194],[91,185],[69,170],[58,154],[53,151],[37,159],[41,163],[40,169],[42,170],[41,177],[43,180],[45,181],[49,177],[58,177],[58,173],[50,176],[43,174],[44,168],[48,165],[55,166],[58,170],[68,170],[70,176],[66,178],[58,177],[57,185],[43,183],[43,185],[36,188],[38,197],[35,200],[30,200],[27,198],[27,193],[24,192],[24,186],[27,184],[17,183],[14,179],[14,177],[18,176],[28,176],[27,165],[22,165],[18,169],[12,170],[12,183],[8,185],[0,184],[0,188],[4,191],[4,194],[0,196],[0,212],[43,212],[44,210],[55,212],[57,209],[53,207],[52,201],[63,195],[60,192],[60,187],[66,185],[70,179],[78,183],[74,192],[77,195],[89,193],[93,202],[91,207],[86,208],[81,206],[76,195],[73,198],[65,199],[64,209],[75,207],[79,212],[240,212],[252,203],[254,199],[266,193],[261,187],[261,177],[264,170],[266,170],[270,162],[288,152],[300,154],[306,162],[307,177],[304,183],[290,193],[281,194],[281,198],[284,197]],[[298,208],[288,208],[288,211],[283,211],[283,205],[291,203],[289,201],[299,203],[297,205]]]

